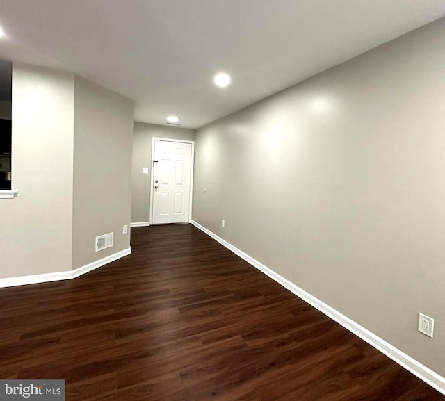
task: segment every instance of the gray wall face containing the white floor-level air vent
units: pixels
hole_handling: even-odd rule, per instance
[[[74,93],[73,270],[130,246],[133,135],[133,101],[78,76]],[[114,246],[95,252],[110,232]]]

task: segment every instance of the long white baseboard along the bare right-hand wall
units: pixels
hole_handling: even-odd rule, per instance
[[[409,370],[413,375],[416,375],[419,377],[419,379],[423,380],[423,382],[426,382],[432,386],[432,388],[435,388],[437,391],[445,395],[445,378],[435,373],[434,370],[424,366],[419,361],[416,361],[414,358],[410,357],[410,355],[398,350],[398,348],[394,347],[394,345],[387,343],[387,341],[376,336],[368,329],[365,329],[359,325],[357,322],[350,320],[350,318],[343,315],[343,313],[340,313],[336,309],[325,304],[323,301],[318,300],[318,298],[314,297],[314,295],[307,293],[302,288],[296,286],[296,284],[293,284],[291,281],[278,275],[267,266],[263,265],[256,259],[253,259],[252,256],[249,256],[245,252],[241,251],[241,249],[234,247],[234,245],[228,243],[226,240],[223,240],[223,238],[213,234],[212,231],[206,229],[201,224],[195,221],[192,221],[192,224],[205,234],[211,236],[211,238],[217,240],[218,243],[224,245],[227,249],[234,252],[234,254],[240,256],[241,259],[244,259],[246,262],[250,263],[252,266],[254,266],[254,268],[264,272],[265,275],[268,275],[268,277],[277,281],[278,284],[281,284],[284,288],[291,291],[291,293],[294,293],[308,304],[314,306],[314,308],[318,309],[318,311],[323,312],[326,316],[329,316],[332,320],[339,323],[350,332],[353,332],[353,334],[359,336],[359,338],[362,338],[362,340],[366,341],[366,343],[369,343],[369,345],[372,345],[375,349],[379,350],[387,357],[403,366],[403,368]]]

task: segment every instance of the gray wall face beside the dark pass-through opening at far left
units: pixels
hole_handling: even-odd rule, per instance
[[[0,278],[71,269],[74,74],[13,66],[13,189],[0,199]]]

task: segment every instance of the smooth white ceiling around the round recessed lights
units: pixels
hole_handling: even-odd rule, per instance
[[[115,90],[136,121],[197,128],[444,15],[443,0],[1,0],[0,58]]]

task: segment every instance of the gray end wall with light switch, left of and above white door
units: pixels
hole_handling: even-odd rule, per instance
[[[135,122],[133,126],[133,172],[131,177],[131,222],[149,222],[152,138],[195,140],[195,130]]]

